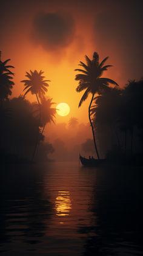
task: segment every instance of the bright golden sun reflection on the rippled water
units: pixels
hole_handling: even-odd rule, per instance
[[[58,191],[58,196],[55,202],[56,215],[68,216],[71,210],[70,192]]]

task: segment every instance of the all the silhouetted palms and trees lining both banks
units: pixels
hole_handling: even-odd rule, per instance
[[[99,62],[98,53],[93,58],[85,55],[86,63],[80,61],[77,92],[84,91],[79,107],[91,97],[88,118],[93,134],[81,144],[85,153],[95,147],[95,158],[107,159],[120,164],[142,164],[143,155],[143,78],[128,80],[121,88],[116,81],[102,77],[111,65],[105,65],[108,57]],[[9,98],[14,86],[13,66],[10,59],[1,61],[0,54],[0,162],[1,164],[32,164],[36,161],[56,161],[48,156],[55,150],[45,142],[45,126],[55,123],[56,108],[48,95],[48,83],[43,71],[26,72],[24,95]],[[30,103],[25,96],[35,94],[36,102]],[[68,125],[75,130],[78,119],[71,117]],[[70,130],[71,132],[71,130]],[[93,145],[94,142],[94,145]],[[69,145],[70,146],[70,145]],[[61,149],[62,150],[62,149]],[[78,155],[77,155],[78,161]]]

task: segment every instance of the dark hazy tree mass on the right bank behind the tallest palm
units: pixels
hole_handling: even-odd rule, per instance
[[[91,116],[104,155],[107,151],[130,157],[143,153],[142,93],[143,79],[95,97]]]

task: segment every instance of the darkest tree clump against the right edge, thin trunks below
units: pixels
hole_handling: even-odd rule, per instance
[[[127,132],[131,135],[131,155],[133,154],[133,139],[135,130],[143,128],[142,115],[143,79],[129,80],[122,91],[122,107],[119,116],[120,128],[125,132],[125,151],[127,147]]]

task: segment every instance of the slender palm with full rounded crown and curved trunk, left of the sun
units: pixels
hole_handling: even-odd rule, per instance
[[[42,71],[40,71],[38,73],[38,71],[36,71],[36,70],[34,72],[30,70],[30,73],[26,72],[27,75],[25,75],[25,77],[27,77],[28,79],[21,81],[22,83],[24,83],[24,86],[25,86],[23,91],[27,90],[25,92],[24,96],[28,92],[31,92],[32,94],[36,95],[36,98],[38,100],[38,104],[39,104],[39,126],[40,126],[40,123],[41,123],[41,104],[39,102],[39,98],[41,99],[42,96],[45,94],[45,92],[48,91],[47,90],[48,83],[46,83],[46,82],[50,81],[50,80],[44,80],[45,77],[42,76],[43,73],[44,72],[42,72]],[[35,150],[34,150],[34,153],[33,153],[32,160],[35,157],[38,142],[39,142],[39,127],[38,127],[38,137],[36,139]]]

